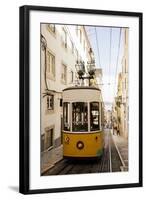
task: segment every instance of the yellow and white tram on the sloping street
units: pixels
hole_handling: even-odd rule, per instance
[[[63,90],[64,158],[97,158],[103,154],[102,96],[91,86]]]

